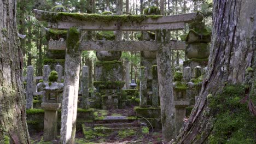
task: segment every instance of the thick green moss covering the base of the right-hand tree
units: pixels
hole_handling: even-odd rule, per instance
[[[245,97],[245,86],[228,85],[217,97],[207,98],[216,118],[208,137],[210,143],[256,143],[256,119],[249,112],[248,101],[242,103]]]

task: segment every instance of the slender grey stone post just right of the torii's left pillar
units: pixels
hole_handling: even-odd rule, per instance
[[[82,99],[80,107],[89,109],[89,67],[83,66],[82,69]]]

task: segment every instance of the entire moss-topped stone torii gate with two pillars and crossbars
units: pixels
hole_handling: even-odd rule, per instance
[[[67,41],[49,41],[49,49],[65,50],[65,89],[62,102],[61,142],[74,143],[77,116],[78,83],[82,50],[157,51],[162,132],[165,140],[176,136],[174,97],[171,72],[171,50],[185,50],[185,44],[170,41],[167,31],[179,30],[185,23],[202,21],[201,13],[172,16],[98,15],[51,13],[34,10],[39,21],[49,28],[69,29]],[[155,41],[82,41],[79,31],[155,31]]]

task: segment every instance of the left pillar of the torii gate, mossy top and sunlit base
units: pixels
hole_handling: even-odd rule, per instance
[[[79,49],[80,34],[77,28],[69,28],[67,33],[67,49],[65,61],[65,89],[63,94],[63,103],[61,116],[61,142],[75,143],[75,125],[77,121],[77,100],[79,89],[79,72],[81,62],[81,50]],[[73,88],[67,88],[72,86]],[[70,101],[69,95],[73,96]],[[67,130],[67,126],[72,124],[72,130]]]

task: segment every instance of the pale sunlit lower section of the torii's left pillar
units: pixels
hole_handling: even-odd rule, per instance
[[[74,87],[65,86],[61,109],[61,143],[70,143],[72,137]]]

